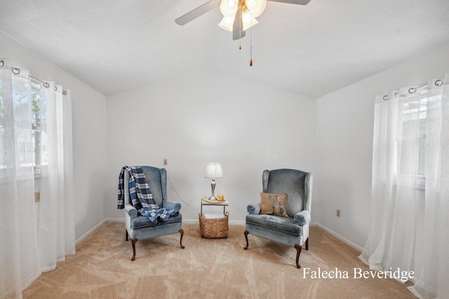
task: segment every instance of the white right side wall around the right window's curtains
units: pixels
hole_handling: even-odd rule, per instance
[[[449,72],[449,44],[316,100],[318,221],[363,247],[370,231],[375,95]],[[341,217],[336,217],[336,210]]]

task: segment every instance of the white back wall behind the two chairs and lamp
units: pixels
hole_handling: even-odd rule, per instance
[[[229,200],[230,220],[243,223],[247,204],[260,202],[264,169],[314,172],[315,157],[315,101],[289,91],[211,71],[112,95],[107,217],[124,217],[116,186],[125,165],[161,168],[168,159],[170,180],[185,202],[170,184],[168,199],[182,204],[183,219],[197,221],[201,197],[211,192],[206,165],[220,162],[224,178],[215,194]]]

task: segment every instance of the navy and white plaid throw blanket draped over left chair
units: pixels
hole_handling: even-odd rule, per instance
[[[131,202],[140,215],[145,216],[153,223],[161,224],[162,222],[167,221],[170,216],[177,214],[175,210],[160,208],[156,204],[156,201],[154,201],[153,195],[149,190],[149,185],[145,180],[145,174],[139,166],[124,166],[121,168],[117,208],[125,208],[125,171],[128,171],[129,173],[128,187]]]

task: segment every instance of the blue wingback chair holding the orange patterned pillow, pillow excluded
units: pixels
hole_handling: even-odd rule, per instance
[[[260,214],[260,203],[248,205],[245,239],[248,249],[248,234],[262,237],[296,248],[296,267],[305,244],[309,250],[309,222],[312,174],[294,169],[264,171],[262,190],[264,193],[288,194],[286,213],[288,217]]]

